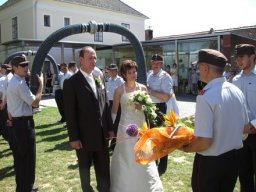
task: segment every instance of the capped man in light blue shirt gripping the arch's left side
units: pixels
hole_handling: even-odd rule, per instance
[[[42,96],[43,79],[39,78],[39,87],[33,95],[26,84],[28,63],[25,55],[12,59],[14,72],[7,87],[7,110],[13,131],[13,157],[16,174],[16,191],[37,191],[34,188],[36,142],[32,107],[38,107]]]

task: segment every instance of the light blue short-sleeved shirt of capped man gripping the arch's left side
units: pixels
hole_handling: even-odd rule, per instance
[[[14,74],[7,87],[7,110],[12,117],[32,116],[35,100],[24,78]]]

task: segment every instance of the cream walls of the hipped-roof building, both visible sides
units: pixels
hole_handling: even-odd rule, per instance
[[[44,15],[51,16],[51,27],[44,26]],[[50,34],[64,27],[64,17],[70,18],[71,25],[81,23],[88,24],[91,20],[95,20],[97,23],[129,24],[132,33],[134,33],[140,41],[145,40],[144,17],[126,15],[119,12],[111,12],[54,0],[22,0],[0,11],[2,43],[11,42],[13,40],[13,17],[18,18],[18,40],[24,40],[24,42],[26,40],[44,41]],[[103,45],[127,43],[122,42],[121,35],[110,32],[103,33],[103,42],[94,42],[94,34],[90,33],[72,35],[61,41]],[[33,47],[33,45],[29,46]],[[38,47],[34,47],[33,51],[37,49]],[[21,50],[27,51],[26,45],[25,47],[17,47],[15,44],[9,44],[8,46],[0,45],[0,63],[13,52]],[[58,63],[62,62],[60,48],[52,48],[49,54],[52,55]],[[65,47],[64,62],[68,63],[70,60],[73,60],[72,54],[72,49]],[[78,56],[75,56],[75,60],[79,62],[77,59]],[[104,62],[103,59],[99,59],[100,66],[103,65]]]

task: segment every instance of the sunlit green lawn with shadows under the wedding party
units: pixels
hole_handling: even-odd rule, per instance
[[[59,113],[47,107],[34,115],[37,139],[36,185],[40,192],[80,192],[80,178],[75,152],[68,143],[65,124],[56,123]],[[193,118],[183,120],[192,125]],[[176,150],[169,154],[168,170],[161,177],[165,192],[190,192],[194,154]],[[92,185],[95,176],[92,169]],[[12,153],[0,137],[1,192],[15,191]],[[235,191],[238,191],[238,185]]]

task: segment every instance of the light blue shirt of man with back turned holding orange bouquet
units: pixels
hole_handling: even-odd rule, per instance
[[[212,145],[201,152],[218,156],[243,147],[243,129],[248,123],[245,98],[225,77],[210,81],[196,99],[195,136],[212,138]]]

